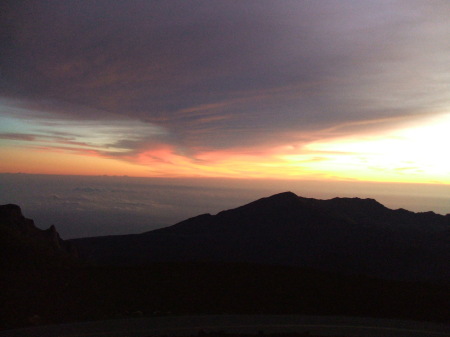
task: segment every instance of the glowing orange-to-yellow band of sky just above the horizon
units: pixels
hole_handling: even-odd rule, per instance
[[[59,129],[54,127],[57,133],[55,130],[61,134],[75,131],[70,123]],[[109,129],[105,126],[103,130]],[[442,153],[442,147],[450,144],[450,114],[420,120],[382,135],[356,134],[303,146],[204,150],[190,156],[177,153],[169,144],[116,156],[120,151],[92,142],[103,137],[103,143],[112,143],[114,133],[121,129],[112,130],[100,132],[97,137],[87,137],[84,130],[71,142],[45,137],[44,141],[4,141],[0,146],[4,159],[0,172],[450,184],[450,159]],[[156,128],[148,130],[163,132]]]

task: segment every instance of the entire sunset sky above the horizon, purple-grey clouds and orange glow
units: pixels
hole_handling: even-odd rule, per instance
[[[447,0],[0,13],[2,173],[450,184]]]

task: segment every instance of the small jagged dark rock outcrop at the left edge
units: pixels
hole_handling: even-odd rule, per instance
[[[55,226],[41,230],[19,206],[0,205],[0,267],[6,269],[62,266],[77,256]]]

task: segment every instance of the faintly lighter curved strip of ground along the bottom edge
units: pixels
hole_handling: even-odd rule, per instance
[[[41,326],[0,332],[0,337],[147,337],[212,336],[214,332],[273,334],[295,332],[310,336],[360,337],[444,337],[450,326],[444,324],[355,317],[319,316],[179,316],[121,319]]]

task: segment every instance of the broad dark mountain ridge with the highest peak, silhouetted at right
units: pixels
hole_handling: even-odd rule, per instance
[[[72,240],[100,264],[244,262],[386,279],[450,280],[450,216],[374,199],[275,194],[139,235]]]

